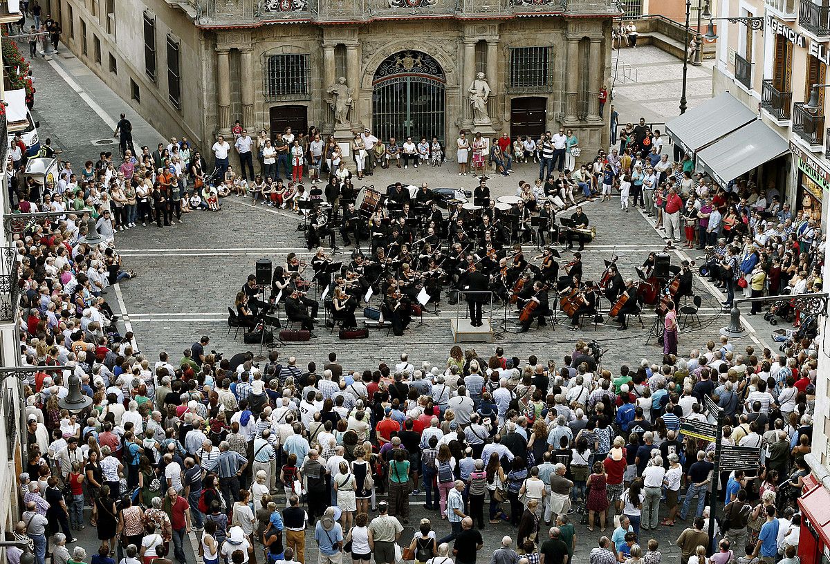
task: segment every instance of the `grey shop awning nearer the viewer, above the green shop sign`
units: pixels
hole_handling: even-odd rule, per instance
[[[789,144],[767,124],[756,120],[697,153],[697,167],[720,186],[789,152]]]

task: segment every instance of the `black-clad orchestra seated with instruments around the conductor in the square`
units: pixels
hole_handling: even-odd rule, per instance
[[[605,260],[596,283],[583,282],[580,251],[593,241],[594,231],[581,206],[572,208],[569,217],[560,216],[557,225],[557,211],[564,205],[558,191],[549,192],[556,187],[551,179],[535,188],[522,182],[517,196],[493,199],[482,178],[471,201],[454,197],[449,189],[433,191],[426,182],[417,188],[396,182],[381,193],[348,180],[330,181],[324,191],[329,202],[313,201],[304,224],[305,244],[315,249],[309,262],[287,255],[285,265],[274,270],[270,300],[263,299],[251,275],[242,287],[241,311],[256,319],[284,304],[291,321],[311,330],[320,313],[320,302],[310,297],[315,295],[323,302],[327,323],[352,329],[359,304],[368,306],[378,296],[382,319],[395,335],[403,335],[413,312],[420,314],[419,304],[434,304],[437,313],[442,296],[456,303],[455,290],[455,295],[467,293],[461,299],[468,304],[473,327],[483,324],[482,305],[492,296],[494,309],[503,306],[518,318],[520,333],[534,320],[544,327],[546,318],[557,314],[566,315],[576,331],[586,317],[602,323],[599,314],[605,307],[610,318],[617,318],[619,330],[625,330],[627,316],[639,314],[642,306],[664,314],[667,302],[678,309],[681,296],[692,292],[694,263],[684,261],[673,278],[658,280],[654,253],[642,270],[634,269],[637,282],[623,279],[617,257]],[[338,233],[345,247],[354,245],[339,258],[335,255],[344,251],[336,246]],[[324,242],[330,252],[321,246]],[[574,243],[579,250],[572,250]],[[531,244],[539,252],[525,255]],[[571,250],[571,258],[559,250]],[[549,291],[554,292],[551,301]]]

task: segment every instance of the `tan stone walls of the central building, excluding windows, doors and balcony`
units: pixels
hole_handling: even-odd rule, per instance
[[[610,75],[610,56],[605,46],[610,41],[609,17],[527,17],[500,22],[476,20],[466,22],[456,17],[421,18],[405,21],[383,21],[360,24],[320,26],[295,23],[267,26],[232,27],[232,17],[214,27],[198,27],[194,13],[187,5],[166,0],[115,1],[115,27],[107,28],[107,0],[47,0],[55,17],[61,17],[63,40],[107,85],[165,136],[187,135],[203,153],[220,132],[227,133],[230,124],[239,119],[251,134],[259,129],[270,131],[270,109],[274,106],[300,105],[307,108],[308,124],[324,133],[334,129],[333,113],[323,95],[330,85],[330,70],[325,68],[325,45],[349,45],[349,56],[358,61],[354,80],[358,82],[357,102],[351,110],[353,129],[372,127],[372,77],[384,56],[396,51],[417,50],[434,57],[447,76],[444,130],[447,139],[454,139],[465,125],[469,113],[466,99],[467,74],[464,71],[464,41],[491,41],[496,53],[495,70],[488,81],[493,97],[488,104],[494,129],[509,129],[510,100],[520,97],[508,94],[508,49],[511,46],[552,46],[553,84],[538,94],[547,99],[548,129],[564,124],[576,130],[586,149],[599,148],[608,132],[598,115],[593,119],[566,118],[566,85],[576,79],[574,68],[583,68],[591,75],[589,92],[598,92]],[[95,7],[93,7],[95,2]],[[157,79],[145,72],[144,13],[154,14],[156,22]],[[72,22],[70,23],[70,17]],[[84,53],[81,32],[85,22],[87,49]],[[180,44],[181,107],[168,100],[167,48],[168,33]],[[567,61],[568,35],[577,34],[599,40],[602,54],[597,58],[598,71],[589,65]],[[101,42],[101,61],[95,61],[94,39]],[[357,46],[354,49],[354,46]],[[269,99],[266,93],[267,59],[276,54],[308,54],[310,56],[311,95],[298,100]],[[115,57],[117,74],[110,71],[110,54]],[[227,66],[226,66],[227,61]],[[583,61],[587,62],[587,61]],[[220,74],[227,69],[226,91],[222,92]],[[352,77],[349,77],[352,78]],[[593,80],[595,79],[595,80]],[[132,84],[138,85],[140,102],[133,100]],[[246,82],[247,80],[247,82]],[[349,84],[354,88],[354,84]],[[573,88],[571,89],[573,90]],[[227,98],[227,105],[222,105]],[[246,100],[248,100],[246,102]],[[223,119],[229,120],[222,124]],[[566,123],[567,122],[567,123]],[[466,124],[469,125],[469,124]]]

